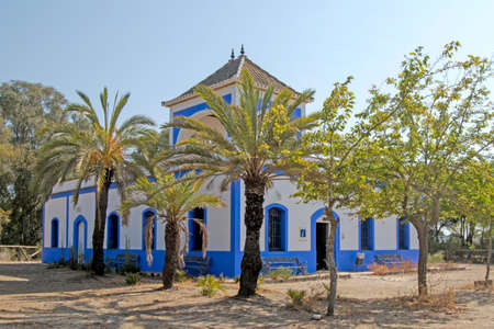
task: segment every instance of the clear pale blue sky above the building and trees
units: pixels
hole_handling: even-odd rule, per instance
[[[160,102],[236,55],[321,106],[348,75],[358,106],[371,84],[423,45],[433,57],[452,39],[463,54],[494,54],[494,1],[0,1],[0,82],[75,90],[96,102],[104,86],[132,93],[126,115],[168,121]],[[359,109],[358,109],[359,110]]]

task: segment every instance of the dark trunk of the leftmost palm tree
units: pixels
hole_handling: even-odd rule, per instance
[[[108,193],[112,181],[112,171],[106,170],[101,190],[97,189],[97,212],[94,229],[92,231],[92,271],[97,275],[104,275],[104,227],[106,225]]]

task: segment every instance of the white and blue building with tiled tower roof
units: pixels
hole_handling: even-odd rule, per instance
[[[254,64],[242,54],[232,58],[222,68],[200,83],[210,86],[228,103],[239,102],[239,73],[248,69],[260,90],[274,84],[279,92],[289,88],[283,82]],[[296,91],[293,90],[294,93]],[[192,89],[181,95],[162,102],[169,107],[170,118],[179,115],[191,116],[224,133],[221,124],[209,113],[207,104]],[[295,115],[305,115],[305,104]],[[190,132],[173,128],[170,140],[173,145],[190,137]],[[60,257],[68,258],[69,250],[76,250],[81,261],[89,262],[92,254],[92,230],[96,215],[96,194],[93,182],[88,181],[80,190],[79,202],[74,204],[76,182],[56,185],[50,197],[43,205],[43,262],[55,262]],[[221,192],[218,183],[207,185],[207,191],[217,193],[225,204],[222,208],[206,207],[195,209],[193,217],[203,218],[209,234],[207,256],[211,258],[210,273],[225,276],[240,274],[240,262],[245,242],[244,185],[234,182],[226,192]],[[328,224],[324,222],[322,203],[301,203],[291,197],[295,186],[289,181],[277,181],[265,196],[265,224],[261,228],[261,256],[294,256],[307,262],[307,271],[324,268]],[[161,220],[155,225],[155,240],[151,265],[146,263],[144,248],[144,226],[153,208],[133,208],[127,226],[122,225],[119,214],[120,196],[112,186],[110,190],[105,258],[130,252],[138,254],[142,271],[160,272],[165,256],[165,227]],[[398,216],[374,220],[360,220],[351,209],[335,208],[340,225],[335,241],[336,265],[340,271],[359,271],[373,262],[375,254],[400,254],[402,259],[417,261],[418,239],[415,228],[398,219]],[[202,254],[199,227],[190,223],[189,254]],[[356,265],[358,253],[364,254],[362,266]]]

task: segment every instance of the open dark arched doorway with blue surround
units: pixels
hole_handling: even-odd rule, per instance
[[[336,218],[339,219],[338,214],[333,212]],[[338,251],[339,251],[339,227],[336,228],[334,258],[336,266],[338,268]],[[327,270],[327,242],[329,239],[330,223],[324,218],[324,208],[319,208],[311,216],[311,252],[315,264],[315,270]]]

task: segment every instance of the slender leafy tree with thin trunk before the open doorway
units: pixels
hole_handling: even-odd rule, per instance
[[[355,104],[355,95],[349,90],[351,77],[335,87],[324,102],[316,129],[303,136],[302,147],[295,157],[300,178],[299,196],[304,202],[322,201],[324,217],[330,225],[327,250],[330,284],[328,290],[327,315],[333,316],[336,304],[338,273],[334,259],[334,243],[339,219],[333,209],[336,207],[353,208],[360,213],[362,191],[372,190],[367,183],[367,155],[372,150],[368,140],[370,132],[385,122],[391,113],[373,116],[372,120],[359,120],[349,126]],[[366,218],[366,217],[362,217]]]

